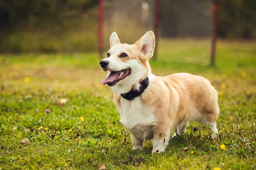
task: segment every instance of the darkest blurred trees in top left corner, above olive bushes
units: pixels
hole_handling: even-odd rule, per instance
[[[97,0],[0,0],[0,29],[61,25],[97,4]]]

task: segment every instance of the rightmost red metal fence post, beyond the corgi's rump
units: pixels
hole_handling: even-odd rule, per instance
[[[217,26],[218,26],[218,6],[214,1],[213,4],[213,33],[212,33],[212,45],[211,45],[211,54],[210,54],[210,65],[215,65],[215,51],[216,51],[216,41],[217,41]]]

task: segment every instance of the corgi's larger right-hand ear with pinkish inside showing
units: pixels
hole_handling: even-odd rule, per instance
[[[145,55],[145,57],[150,58],[153,56],[154,47],[155,47],[155,37],[152,31],[146,32],[140,40],[136,43],[138,45],[140,52]]]

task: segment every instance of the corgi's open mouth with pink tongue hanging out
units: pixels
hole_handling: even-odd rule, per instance
[[[120,80],[124,79],[125,77],[131,74],[131,69],[127,68],[121,71],[111,71],[108,77],[103,79],[100,83],[105,85],[108,83],[109,86],[115,85]]]

